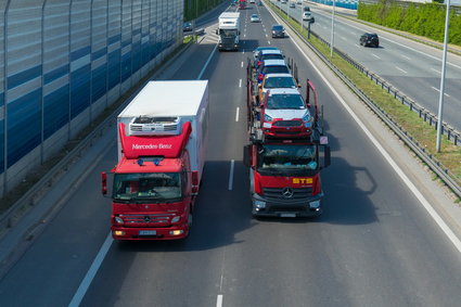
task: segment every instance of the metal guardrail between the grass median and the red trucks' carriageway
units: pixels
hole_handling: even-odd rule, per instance
[[[279,14],[277,11],[276,14],[282,20],[285,17]],[[434,171],[445,182],[445,184],[447,184],[447,187],[449,187],[451,191],[457,194],[458,197],[461,199],[461,180],[459,180],[449,169],[445,168],[444,165],[434,157],[434,155],[421,146],[421,144],[418,143],[418,141],[412,138],[398,123],[396,123],[390,115],[388,115],[369,97],[367,97],[366,93],[357,88],[357,86],[351,80],[349,80],[346,75],[344,75],[333,63],[331,63],[329,59],[324,56],[323,53],[321,53],[312,43],[310,43],[304,36],[302,36],[296,28],[294,28],[290,23],[287,23],[286,26],[290,27],[298,36],[298,38],[302,39],[303,42],[306,43],[394,131],[394,133],[396,133],[424,163],[426,163],[431,170]],[[316,36],[323,43],[330,47],[330,43],[320,38],[317,34],[311,31],[311,35]],[[336,48],[333,48],[333,50],[340,55],[342,54],[342,52],[338,52]],[[350,59],[350,61],[354,60]],[[445,130],[447,131],[447,129]],[[458,140],[459,133],[457,135],[457,142]]]

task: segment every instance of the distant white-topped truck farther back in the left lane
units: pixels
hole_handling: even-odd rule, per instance
[[[240,46],[240,13],[225,12],[219,15],[218,29],[219,35],[218,49],[239,50]]]

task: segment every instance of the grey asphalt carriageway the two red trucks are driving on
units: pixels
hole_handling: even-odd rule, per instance
[[[249,23],[255,12],[261,23]],[[292,38],[270,37],[276,21],[266,8],[251,4],[241,14],[239,52],[217,52],[210,25],[161,77],[209,79],[210,138],[190,236],[107,239],[111,201],[101,195],[100,171],[116,164],[114,128],[63,208],[42,221],[41,234],[0,280],[1,306],[459,305],[460,246],[422,205],[424,197],[434,206],[448,201],[409,188],[325,81],[326,72],[319,74]],[[255,47],[269,44],[294,59],[325,108],[332,165],[322,174],[326,196],[317,219],[251,217],[242,164],[245,65]]]

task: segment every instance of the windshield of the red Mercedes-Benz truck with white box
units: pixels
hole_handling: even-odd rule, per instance
[[[114,200],[133,203],[177,202],[181,199],[179,172],[115,174]]]

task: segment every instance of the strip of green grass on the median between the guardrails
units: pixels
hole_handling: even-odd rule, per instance
[[[268,2],[266,2],[268,3]],[[271,4],[272,9],[278,15],[290,23],[294,28],[298,29],[300,25],[298,22],[290,17],[279,10],[276,5]],[[307,29],[304,29],[302,35],[307,39]],[[330,48],[324,44],[321,40],[313,36],[310,36],[309,42],[312,43],[322,54],[330,57]],[[449,169],[456,179],[461,180],[461,148],[456,146],[450,142],[446,136],[441,136],[441,150],[440,153],[436,153],[435,140],[437,131],[434,127],[430,126],[417,113],[410,111],[410,108],[394,95],[383,90],[381,86],[377,86],[369,77],[354,67],[351,64],[343,60],[338,54],[333,53],[330,61],[349,78],[361,91],[363,91],[374,103],[376,103],[382,110],[389,114],[395,121],[397,121],[426,152],[435,156],[445,168]]]

